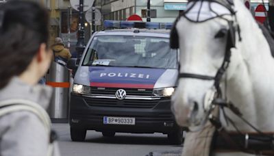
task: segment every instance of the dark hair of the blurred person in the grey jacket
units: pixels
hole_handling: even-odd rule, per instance
[[[40,44],[49,39],[49,15],[33,1],[0,5],[0,88],[26,70]]]

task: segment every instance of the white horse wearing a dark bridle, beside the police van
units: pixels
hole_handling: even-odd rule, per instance
[[[229,9],[236,12],[235,16]],[[232,40],[227,39],[232,28],[228,21],[233,21],[235,28]],[[184,73],[172,97],[171,108],[177,123],[190,130],[202,126],[208,112],[205,96],[214,87],[211,77],[215,77],[223,64],[227,42],[231,44],[235,40],[235,47],[229,47],[229,66],[220,81],[223,97],[234,103],[251,125],[273,135],[274,59],[266,38],[242,1],[234,0],[231,8],[207,0],[192,1],[186,13],[178,18],[175,30],[179,39],[179,73]],[[229,109],[225,108],[225,113],[242,133],[257,133]],[[236,131],[231,123],[227,125],[222,114],[220,116],[226,131]],[[251,154],[234,151],[213,155]]]

